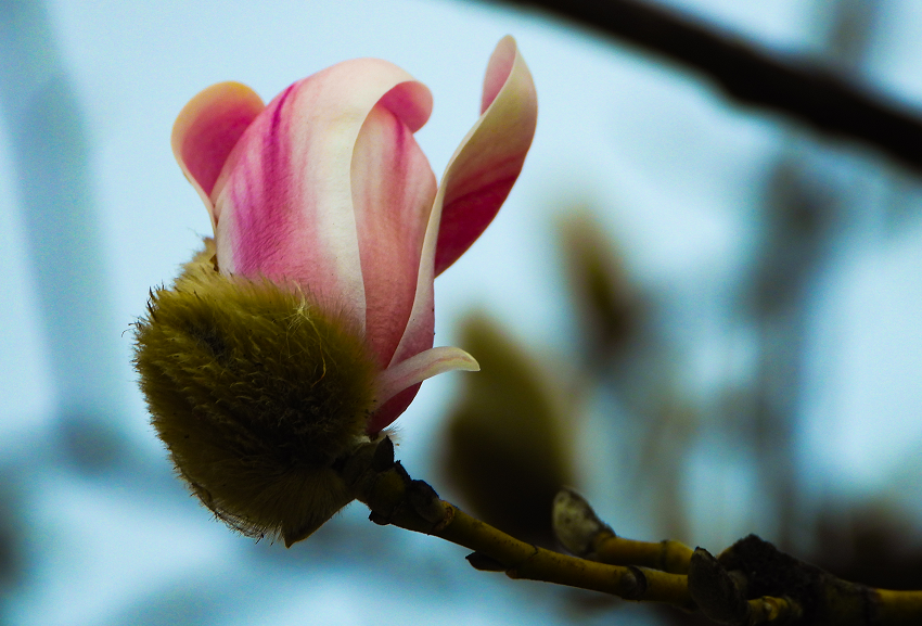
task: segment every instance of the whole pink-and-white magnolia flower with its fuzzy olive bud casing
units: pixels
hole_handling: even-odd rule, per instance
[[[440,184],[413,139],[431,110],[412,76],[357,59],[268,104],[214,85],[174,125],[215,240],[151,294],[136,366],[177,471],[244,534],[310,535],[354,497],[338,470],[420,384],[478,367],[433,347],[433,281],[492,220],[532,143],[515,41],[494,51]]]

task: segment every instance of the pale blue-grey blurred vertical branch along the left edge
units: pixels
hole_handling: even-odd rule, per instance
[[[0,2],[7,184],[18,196],[37,296],[33,315],[43,325],[63,451],[78,468],[101,471],[127,458],[118,421],[125,374],[107,341],[118,324],[92,197],[92,151],[66,65],[44,2]]]

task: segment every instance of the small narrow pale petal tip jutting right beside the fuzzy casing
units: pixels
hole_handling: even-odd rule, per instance
[[[439,347],[422,352],[392,366],[377,375],[377,406],[369,421],[368,432],[377,433],[402,413],[420,383],[452,370],[477,371],[481,366],[474,357],[456,347]]]

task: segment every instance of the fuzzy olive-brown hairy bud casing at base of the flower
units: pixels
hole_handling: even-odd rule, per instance
[[[376,366],[355,324],[290,285],[227,277],[214,242],[151,294],[135,366],[177,472],[241,533],[304,539],[353,500]]]

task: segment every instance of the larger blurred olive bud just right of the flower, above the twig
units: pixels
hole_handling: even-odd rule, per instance
[[[560,398],[539,363],[485,315],[463,324],[460,345],[481,371],[466,376],[449,410],[443,471],[454,494],[488,524],[554,545],[551,504],[574,484]],[[571,408],[567,419],[577,411]]]

